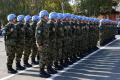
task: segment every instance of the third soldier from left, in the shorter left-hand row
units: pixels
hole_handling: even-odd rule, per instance
[[[24,62],[24,67],[32,67],[32,65],[28,63],[29,56],[31,54],[32,36],[34,36],[33,35],[33,31],[31,29],[31,26],[30,26],[31,16],[29,16],[29,15],[25,16],[24,20],[25,20],[25,24],[24,24],[25,45],[24,45],[24,58],[23,58],[23,62]]]

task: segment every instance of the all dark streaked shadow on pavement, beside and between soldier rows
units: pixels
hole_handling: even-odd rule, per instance
[[[120,41],[101,49],[86,60],[76,64],[65,72],[60,73],[53,80],[120,80]],[[26,70],[19,75],[39,77],[38,67]]]

